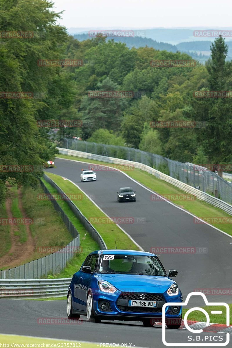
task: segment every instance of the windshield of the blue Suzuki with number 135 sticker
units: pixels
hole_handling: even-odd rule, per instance
[[[165,276],[165,271],[155,256],[141,255],[102,255],[98,272]]]

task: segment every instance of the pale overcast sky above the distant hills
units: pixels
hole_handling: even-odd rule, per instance
[[[231,0],[54,0],[70,27],[231,27]]]

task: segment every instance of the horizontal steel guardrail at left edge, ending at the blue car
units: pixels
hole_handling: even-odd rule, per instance
[[[67,295],[72,278],[62,279],[1,279],[0,298],[28,299],[50,298]]]

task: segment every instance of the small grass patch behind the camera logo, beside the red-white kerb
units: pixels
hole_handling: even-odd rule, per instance
[[[232,312],[232,304],[229,304],[230,307],[230,313]],[[209,314],[209,318],[210,318],[210,323],[214,323],[214,324],[226,324],[226,309],[223,306],[207,306],[207,307],[201,307],[203,309],[205,309],[207,311],[207,313]],[[183,309],[183,318],[184,315],[186,313],[188,309]],[[221,310],[222,314],[211,314],[210,311],[211,310]],[[188,316],[188,320],[193,320],[196,322],[206,322],[206,316],[205,314],[203,314],[200,311],[194,311],[192,313],[190,313],[190,315]],[[232,317],[230,316],[230,325],[232,325]]]

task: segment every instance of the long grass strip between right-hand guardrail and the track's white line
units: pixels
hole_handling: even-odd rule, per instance
[[[96,161],[92,159],[87,158],[80,158],[75,156],[67,156],[67,155],[56,155],[56,157],[59,158],[67,158],[72,160],[78,160],[82,162],[89,162],[93,164],[102,164],[107,165],[110,167],[116,167],[118,165],[114,165],[112,163],[106,163],[103,161]],[[219,208],[215,208],[210,204],[205,203],[202,200],[199,200],[195,197],[195,199],[192,200],[175,200],[171,198],[171,195],[179,196],[184,195],[186,192],[178,189],[174,185],[171,185],[163,180],[158,179],[152,174],[149,174],[147,172],[142,171],[141,169],[134,168],[133,170],[123,170],[127,175],[132,177],[133,179],[137,180],[141,184],[145,185],[147,188],[151,189],[152,191],[158,193],[159,195],[166,196],[168,195],[170,197],[170,201],[172,201],[177,206],[180,206],[187,211],[191,212],[192,214],[198,216],[198,217],[207,217],[207,218],[215,218],[215,217],[231,217],[231,215],[225,213],[223,210]],[[152,195],[152,193],[151,193]],[[194,217],[193,217],[193,223],[194,223]],[[211,225],[217,227],[218,229],[228,233],[232,236],[232,226],[231,223],[215,223],[211,222]]]

